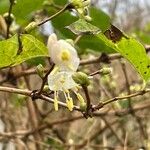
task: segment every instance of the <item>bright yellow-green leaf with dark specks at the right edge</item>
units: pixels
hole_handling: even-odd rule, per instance
[[[132,37],[122,38],[120,41],[113,43],[102,33],[97,36],[108,47],[119,52],[126,58],[134,68],[139,72],[145,81],[150,79],[150,58],[147,56],[145,48],[141,43]]]

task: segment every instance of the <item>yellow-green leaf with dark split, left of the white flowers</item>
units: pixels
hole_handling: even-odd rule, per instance
[[[0,68],[15,66],[35,57],[48,56],[46,46],[35,37],[24,34],[21,36],[22,50],[18,54],[18,37],[13,36],[0,42]]]

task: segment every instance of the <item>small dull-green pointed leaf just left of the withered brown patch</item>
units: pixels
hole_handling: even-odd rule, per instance
[[[69,26],[66,26],[67,29],[71,30],[74,34],[97,34],[100,32],[100,29],[96,26],[88,23],[84,19],[79,19],[76,22],[73,22]]]

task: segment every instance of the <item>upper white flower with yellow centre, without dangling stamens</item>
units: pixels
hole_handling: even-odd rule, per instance
[[[65,40],[57,40],[52,34],[48,39],[48,49],[52,61],[59,67],[60,71],[76,71],[80,60],[76,49]]]

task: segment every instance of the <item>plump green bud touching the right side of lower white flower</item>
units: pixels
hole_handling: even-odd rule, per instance
[[[90,80],[88,78],[88,75],[83,72],[76,72],[72,76],[73,80],[82,86],[88,86],[90,84]]]

